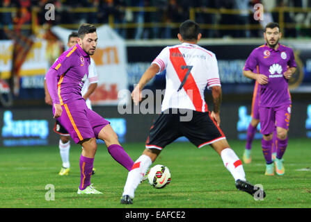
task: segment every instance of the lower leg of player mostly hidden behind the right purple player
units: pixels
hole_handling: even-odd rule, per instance
[[[260,123],[259,119],[253,119],[250,121],[250,124],[247,129],[247,138],[246,138],[246,146],[243,154],[243,161],[245,164],[249,164],[252,161],[251,151],[252,151],[252,143],[255,137],[255,133],[257,131],[257,126]]]

